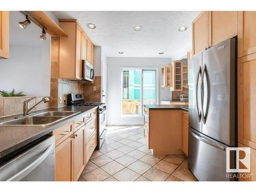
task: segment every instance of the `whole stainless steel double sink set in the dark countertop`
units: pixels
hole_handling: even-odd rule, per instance
[[[46,126],[74,116],[77,111],[49,111],[3,121],[0,126]]]

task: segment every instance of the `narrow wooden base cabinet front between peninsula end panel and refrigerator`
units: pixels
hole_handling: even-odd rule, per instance
[[[188,112],[182,111],[181,150],[188,156]]]

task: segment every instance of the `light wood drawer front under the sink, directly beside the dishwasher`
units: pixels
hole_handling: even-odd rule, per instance
[[[73,122],[67,123],[52,132],[55,135],[55,146],[59,145],[62,141],[67,139],[74,133]]]

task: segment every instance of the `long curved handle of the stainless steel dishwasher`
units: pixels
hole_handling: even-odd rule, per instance
[[[24,169],[20,170],[17,174],[12,176],[11,178],[7,179],[6,181],[19,181],[20,179],[27,176],[35,167],[37,167],[42,161],[44,161],[47,156],[51,153],[52,148],[54,147],[54,143],[52,143],[47,150],[42,153],[35,161],[33,161],[30,165],[25,167]]]

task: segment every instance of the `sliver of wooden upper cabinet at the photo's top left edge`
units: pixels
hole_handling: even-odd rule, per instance
[[[0,58],[9,58],[9,11],[0,11]]]

